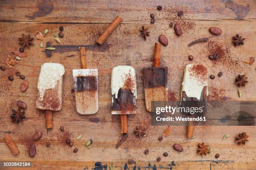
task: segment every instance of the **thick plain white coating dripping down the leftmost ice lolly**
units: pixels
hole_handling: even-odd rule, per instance
[[[54,89],[57,81],[61,79],[61,76],[63,76],[64,73],[64,66],[59,63],[46,62],[41,66],[41,71],[37,83],[39,101],[44,100],[44,93],[46,90]]]

